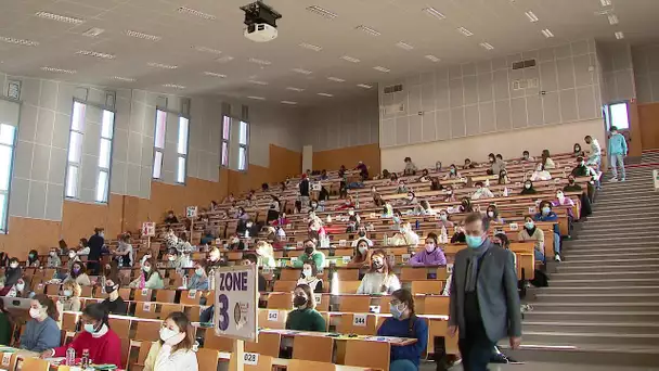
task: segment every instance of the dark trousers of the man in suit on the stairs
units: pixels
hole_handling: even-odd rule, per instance
[[[462,355],[462,367],[464,371],[486,371],[492,355],[494,342],[488,338],[481,322],[467,322],[466,333],[461,334],[457,347]]]

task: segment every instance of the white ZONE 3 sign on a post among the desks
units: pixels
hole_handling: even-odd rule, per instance
[[[258,329],[256,266],[221,267],[215,274],[215,332],[255,342]]]

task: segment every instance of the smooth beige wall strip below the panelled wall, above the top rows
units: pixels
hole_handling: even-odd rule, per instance
[[[462,165],[465,158],[483,162],[489,153],[501,153],[504,158],[521,157],[521,152],[529,151],[532,156],[540,156],[542,150],[550,153],[571,152],[572,145],[580,142],[582,148],[585,136],[597,138],[605,145],[604,121],[599,118],[578,123],[547,125],[541,127],[494,132],[488,136],[457,138],[447,141],[419,143],[405,146],[382,149],[383,169],[400,171],[403,158],[412,157],[416,166],[435,167],[441,161],[444,167],[451,164]]]

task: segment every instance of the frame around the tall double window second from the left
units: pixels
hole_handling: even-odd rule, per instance
[[[85,115],[82,116],[82,123],[85,123],[86,117],[87,117],[87,106],[93,106],[96,108],[102,110],[103,112],[107,111],[109,113],[112,113],[112,125],[109,128],[109,138],[105,138],[103,137],[103,116],[101,117],[101,133],[99,136],[99,161],[101,159],[101,142],[106,140],[109,141],[109,153],[108,153],[108,166],[107,168],[102,167],[99,164],[99,161],[96,161],[96,163],[94,164],[95,166],[95,187],[94,187],[94,193],[93,193],[93,201],[86,201],[86,200],[80,200],[80,176],[81,176],[81,166],[82,166],[82,149],[85,148],[85,126],[81,128],[82,131],[74,129],[73,127],[73,123],[74,123],[74,112],[75,112],[75,106],[76,103],[78,104],[82,104],[85,106]],[[100,205],[107,205],[107,203],[109,202],[109,193],[111,193],[111,184],[112,184],[112,161],[114,157],[114,150],[115,150],[115,145],[114,145],[114,136],[116,132],[116,121],[117,121],[117,111],[108,105],[105,104],[100,104],[100,103],[94,103],[94,102],[89,102],[86,100],[81,100],[78,98],[73,98],[73,103],[72,103],[72,115],[70,115],[70,121],[68,125],[68,142],[66,144],[66,168],[64,171],[64,200],[66,201],[75,201],[75,202],[85,202],[85,203],[94,203],[94,204],[100,204]],[[73,163],[69,159],[69,155],[70,155],[70,138],[72,138],[72,132],[77,132],[79,135],[82,136],[82,140],[81,140],[81,145],[80,145],[80,161],[78,163]],[[68,189],[68,176],[69,176],[69,170],[70,167],[75,167],[77,168],[77,179],[76,179],[76,195],[75,196],[69,196],[67,194],[67,189]],[[105,172],[107,174],[107,180],[106,180],[106,186],[105,186],[105,197],[103,201],[99,201],[96,195],[99,192],[99,179],[101,177],[101,172]]]

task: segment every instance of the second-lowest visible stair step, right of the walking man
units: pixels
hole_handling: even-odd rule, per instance
[[[600,329],[608,331],[609,329]],[[527,343],[550,342],[555,344],[592,344],[625,346],[659,346],[659,334],[626,334],[615,332],[553,332],[527,331],[522,340]]]

